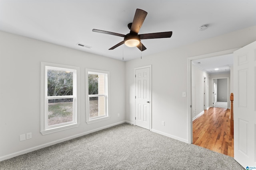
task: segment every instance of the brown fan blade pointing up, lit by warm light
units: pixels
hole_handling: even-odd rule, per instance
[[[142,23],[144,22],[148,12],[140,9],[136,9],[133,21],[132,21],[132,27],[130,33],[136,33],[140,31],[140,27],[142,26]]]

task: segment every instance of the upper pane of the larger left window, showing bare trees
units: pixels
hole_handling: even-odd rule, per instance
[[[73,95],[73,72],[48,70],[48,96]]]

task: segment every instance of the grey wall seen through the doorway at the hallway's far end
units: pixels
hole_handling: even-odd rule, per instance
[[[220,102],[228,102],[228,79],[227,78],[220,78],[218,79],[217,85],[217,101]]]

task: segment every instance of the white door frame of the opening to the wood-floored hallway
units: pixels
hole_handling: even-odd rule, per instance
[[[240,49],[240,48],[218,51],[218,52],[215,52],[215,53],[208,53],[208,54],[198,55],[198,56],[194,56],[194,57],[188,57],[188,59],[187,59],[187,65],[188,65],[188,80],[187,80],[188,81],[188,106],[187,106],[187,108],[188,108],[188,143],[193,143],[192,82],[191,82],[192,81],[192,75],[191,75],[192,60],[232,54],[234,51],[236,51],[238,49]]]

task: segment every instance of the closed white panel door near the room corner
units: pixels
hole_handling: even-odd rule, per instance
[[[150,130],[150,67],[136,69],[135,72],[135,124]]]

